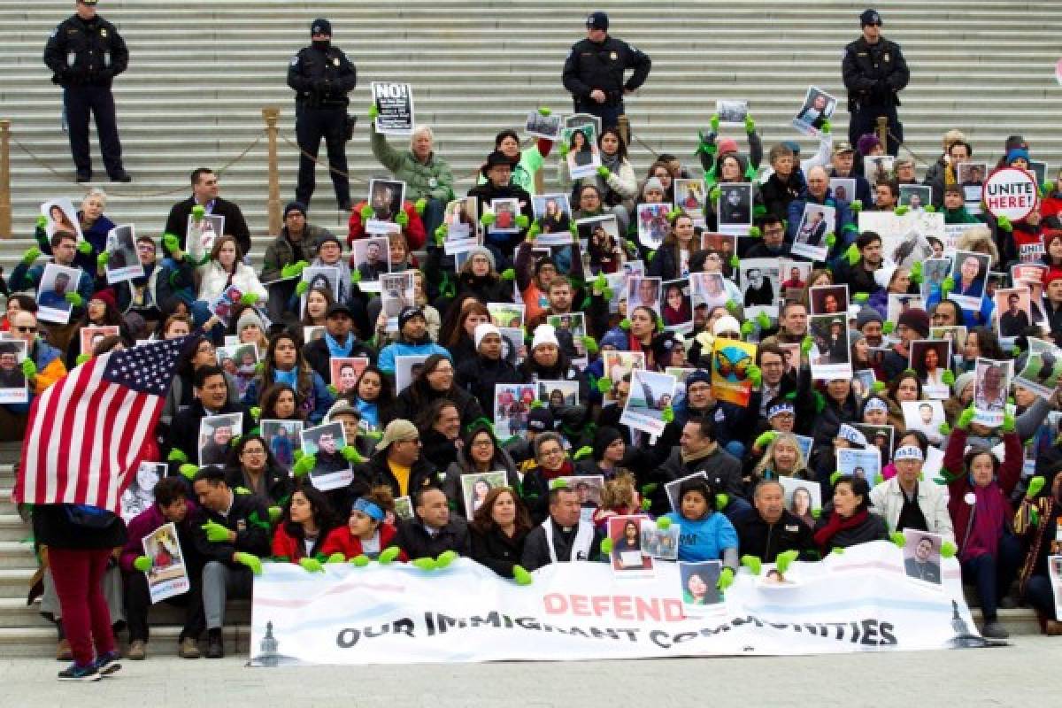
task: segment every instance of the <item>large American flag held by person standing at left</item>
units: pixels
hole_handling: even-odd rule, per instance
[[[118,512],[155,429],[187,338],[90,359],[30,408],[15,500]]]

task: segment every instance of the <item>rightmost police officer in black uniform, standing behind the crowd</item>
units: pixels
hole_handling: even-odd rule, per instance
[[[841,73],[849,89],[849,142],[874,133],[878,116],[889,119],[887,152],[895,156],[904,140],[904,125],[896,116],[897,93],[907,86],[911,74],[900,45],[881,37],[881,16],[868,10],[859,16],[862,33],[844,48]]]

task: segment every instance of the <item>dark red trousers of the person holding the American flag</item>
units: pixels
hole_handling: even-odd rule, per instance
[[[48,549],[48,565],[63,609],[63,631],[78,666],[87,666],[97,656],[115,651],[110,610],[100,583],[109,557],[107,548]]]

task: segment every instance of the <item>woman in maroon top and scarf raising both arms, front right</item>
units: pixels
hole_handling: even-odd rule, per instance
[[[984,626],[981,634],[1006,639],[997,619],[999,599],[1007,595],[1022,559],[1022,546],[1011,530],[1010,499],[1022,476],[1022,441],[1013,416],[1006,414],[1003,462],[990,448],[973,445],[966,451],[972,408],[963,411],[944,451],[942,477],[948,480],[947,508],[959,547],[962,580],[977,585]],[[1009,604],[1005,601],[1006,604]]]

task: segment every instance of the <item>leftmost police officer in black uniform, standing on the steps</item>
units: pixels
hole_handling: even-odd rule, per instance
[[[96,116],[103,166],[112,182],[132,182],[122,167],[122,143],[110,83],[125,71],[130,53],[115,25],[96,14],[97,0],[78,0],[76,13],[52,32],[45,47],[45,64],[63,87],[63,108],[70,133],[70,152],[78,182],[92,178],[88,149],[89,113]]]

